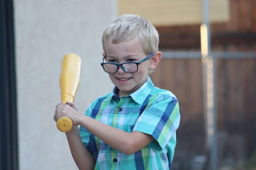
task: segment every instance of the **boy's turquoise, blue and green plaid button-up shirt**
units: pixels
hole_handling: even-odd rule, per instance
[[[95,169],[169,169],[180,122],[177,98],[168,90],[154,87],[149,77],[129,96],[118,97],[115,90],[116,87],[113,93],[94,101],[85,115],[125,132],[150,134],[154,141],[134,154],[125,155],[80,127],[84,146],[96,160]]]

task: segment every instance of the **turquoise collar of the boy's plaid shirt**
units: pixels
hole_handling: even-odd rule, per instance
[[[145,99],[148,97],[152,89],[154,88],[154,84],[151,81],[150,77],[148,76],[147,81],[140,87],[140,89],[136,90],[129,96],[132,97],[132,99],[142,105]],[[120,97],[117,96],[118,89],[117,87],[113,88],[113,97],[116,99],[120,99]]]

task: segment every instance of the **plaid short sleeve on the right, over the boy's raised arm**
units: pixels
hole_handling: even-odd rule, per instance
[[[180,123],[179,103],[172,95],[158,94],[138,118],[132,131],[150,134],[161,148],[170,141]]]

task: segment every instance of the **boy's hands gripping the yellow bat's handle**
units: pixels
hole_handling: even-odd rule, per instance
[[[56,110],[53,119],[55,122],[61,117],[68,117],[72,119],[74,125],[79,125],[79,122],[83,115],[77,111],[74,103],[60,103],[56,105]]]

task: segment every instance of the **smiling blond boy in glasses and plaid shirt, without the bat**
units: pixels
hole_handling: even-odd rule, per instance
[[[155,27],[122,15],[104,31],[101,63],[115,85],[82,115],[58,104],[54,120],[70,117],[68,145],[79,169],[169,169],[180,113],[176,97],[154,87],[148,74],[161,59]],[[77,125],[81,125],[78,129]]]

